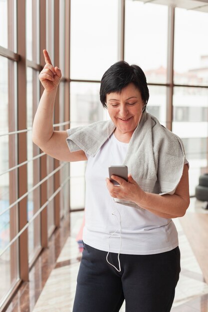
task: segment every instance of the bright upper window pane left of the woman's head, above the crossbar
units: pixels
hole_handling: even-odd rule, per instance
[[[71,79],[100,80],[118,58],[118,0],[71,0],[70,39]]]

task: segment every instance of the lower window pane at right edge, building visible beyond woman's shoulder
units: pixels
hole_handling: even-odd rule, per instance
[[[208,90],[203,88],[174,88],[173,132],[184,141],[190,162],[190,193],[195,194],[199,176],[208,166]]]

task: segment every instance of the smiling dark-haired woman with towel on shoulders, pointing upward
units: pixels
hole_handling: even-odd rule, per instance
[[[73,312],[169,312],[180,273],[172,218],[189,206],[188,161],[176,135],[146,112],[149,90],[137,65],[113,64],[100,100],[110,120],[53,131],[61,71],[46,50],[39,75],[45,88],[34,118],[33,142],[64,161],[87,160],[86,223]],[[110,165],[128,166],[128,181]]]

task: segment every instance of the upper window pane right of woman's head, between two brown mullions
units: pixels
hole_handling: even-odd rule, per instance
[[[126,0],[125,60],[139,65],[147,81],[167,81],[168,6]]]

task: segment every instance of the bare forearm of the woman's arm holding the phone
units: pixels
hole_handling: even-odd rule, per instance
[[[184,216],[189,200],[177,194],[159,195],[144,192],[144,196],[135,200],[136,204],[162,218],[177,218]]]

